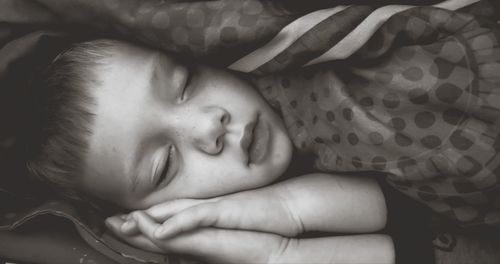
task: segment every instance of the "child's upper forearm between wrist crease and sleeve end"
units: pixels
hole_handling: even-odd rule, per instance
[[[373,179],[312,174],[278,185],[303,231],[373,232],[386,224],[385,199]]]

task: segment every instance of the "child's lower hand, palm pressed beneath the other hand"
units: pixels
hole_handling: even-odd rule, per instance
[[[107,226],[124,241],[138,248],[161,253],[195,256],[213,263],[267,263],[278,259],[289,238],[275,234],[218,228],[200,228],[172,238],[159,239],[160,227],[142,211],[131,214],[138,233],[133,236],[119,231],[124,220],[109,218]]]

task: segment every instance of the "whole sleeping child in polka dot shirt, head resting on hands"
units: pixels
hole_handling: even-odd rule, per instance
[[[216,263],[394,262],[373,234],[381,174],[461,225],[498,224],[498,25],[428,7],[393,18],[349,60],[267,76],[76,44],[47,71],[28,167],[133,211],[107,220],[123,240]],[[297,173],[303,154],[314,168]]]

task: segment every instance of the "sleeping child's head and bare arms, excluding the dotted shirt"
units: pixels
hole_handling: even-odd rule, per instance
[[[125,241],[215,263],[394,261],[387,235],[296,238],[377,231],[384,197],[368,178],[272,184],[293,148],[250,82],[114,40],[77,44],[48,72],[47,141],[29,168],[68,197],[147,209],[108,219]]]

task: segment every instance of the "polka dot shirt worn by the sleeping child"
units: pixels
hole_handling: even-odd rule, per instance
[[[472,16],[414,8],[350,60],[256,83],[319,169],[386,172],[464,226],[500,225],[499,40]]]

